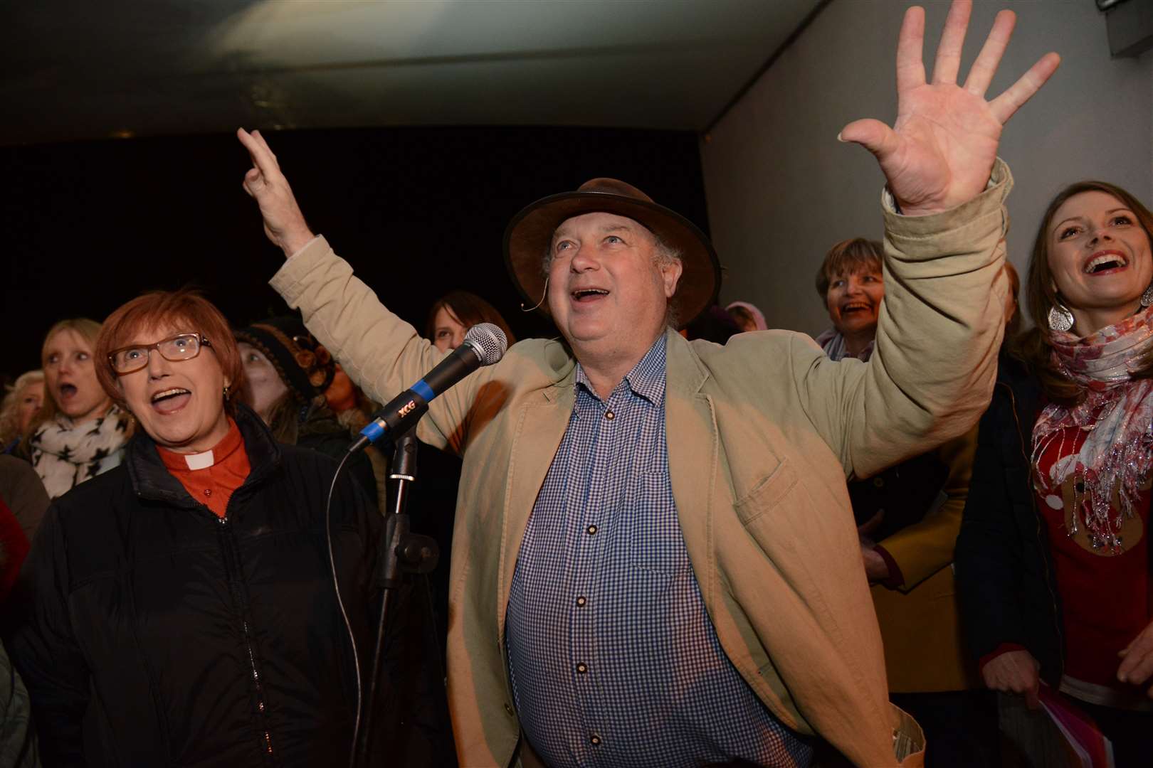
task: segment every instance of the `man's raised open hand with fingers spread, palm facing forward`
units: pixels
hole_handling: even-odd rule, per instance
[[[905,12],[897,40],[897,122],[858,120],[841,131],[876,155],[902,213],[925,215],[970,200],[989,180],[1001,128],[1056,70],[1061,58],[1047,53],[1004,93],[985,100],[1001,56],[1009,45],[1016,15],[997,14],[965,85],[957,85],[960,52],[972,0],[954,0],[945,18],[933,82],[925,79],[921,59],[925,9]]]

